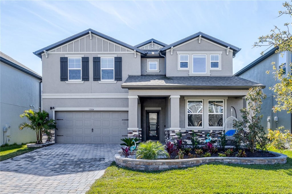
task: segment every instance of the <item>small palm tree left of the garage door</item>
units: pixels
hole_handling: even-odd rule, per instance
[[[23,122],[18,126],[19,130],[24,128],[30,128],[36,132],[36,143],[41,144],[43,139],[43,133],[48,136],[51,135],[50,130],[56,128],[55,120],[48,120],[49,113],[46,111],[39,110],[38,112],[34,112],[33,110],[25,110],[23,114],[20,114],[20,117],[27,117],[30,123]]]

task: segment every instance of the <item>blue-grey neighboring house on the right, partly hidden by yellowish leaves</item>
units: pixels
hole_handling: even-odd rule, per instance
[[[234,74],[234,76],[242,77],[254,82],[260,82],[266,85],[263,92],[267,95],[267,98],[263,100],[261,112],[261,114],[263,114],[262,125],[265,129],[271,128],[275,130],[279,126],[284,126],[285,130],[291,130],[292,114],[287,114],[285,110],[276,113],[272,110],[273,106],[277,104],[277,101],[273,97],[274,92],[269,89],[277,83],[274,79],[274,75],[272,74],[272,62],[275,62],[275,66],[278,69],[283,68],[285,74],[291,72],[290,66],[288,65],[291,62],[291,53],[275,53],[276,50],[277,48],[273,48],[266,52],[263,56],[251,62],[251,64],[248,64],[246,67],[239,70]],[[270,74],[266,73],[267,70],[271,71]]]

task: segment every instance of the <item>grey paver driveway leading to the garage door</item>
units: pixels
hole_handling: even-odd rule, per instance
[[[0,163],[0,192],[85,193],[119,144],[54,144]]]

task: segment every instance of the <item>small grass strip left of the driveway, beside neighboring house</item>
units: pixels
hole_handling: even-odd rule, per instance
[[[26,144],[2,145],[0,147],[0,161],[4,161],[39,148],[27,148]]]

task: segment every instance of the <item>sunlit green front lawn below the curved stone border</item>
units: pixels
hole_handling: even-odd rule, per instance
[[[269,149],[270,151],[277,151]],[[163,172],[142,172],[113,163],[90,193],[292,193],[292,150],[286,164],[235,165],[212,163]]]

